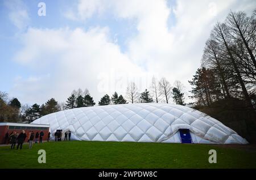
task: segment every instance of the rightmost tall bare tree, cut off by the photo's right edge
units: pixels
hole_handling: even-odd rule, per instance
[[[230,12],[226,22],[228,35],[232,39],[232,52],[238,59],[242,79],[247,91],[256,85],[256,19],[255,14],[247,16],[245,12]]]

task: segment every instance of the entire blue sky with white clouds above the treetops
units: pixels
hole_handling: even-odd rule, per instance
[[[38,15],[40,2],[46,16]],[[42,104],[88,88],[98,102],[125,95],[130,81],[142,91],[152,76],[189,91],[214,23],[255,7],[254,0],[0,1],[0,91]]]

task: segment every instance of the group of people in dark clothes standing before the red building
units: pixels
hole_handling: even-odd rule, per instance
[[[51,132],[48,132],[48,142],[49,142],[49,137],[51,135]],[[41,131],[40,133],[39,132],[36,132],[36,134],[33,132],[33,131],[30,131],[29,134],[28,134],[28,148],[31,149],[32,148],[32,144],[33,144],[33,141],[35,140],[35,143],[38,143],[38,139],[39,139],[39,143],[42,143],[43,141],[43,136],[44,136],[44,132]],[[15,148],[15,145],[17,143],[17,147],[16,149],[22,149],[22,145],[25,141],[25,139],[27,138],[27,134],[24,130],[22,130],[22,132],[18,133],[18,132],[11,132],[11,134],[9,135],[9,132],[6,132],[5,134],[5,143],[6,144],[11,144],[11,149],[14,149]]]

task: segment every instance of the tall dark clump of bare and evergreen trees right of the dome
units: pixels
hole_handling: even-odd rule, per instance
[[[256,142],[255,15],[256,9],[251,15],[230,11],[224,22],[217,22],[201,67],[189,81],[196,109],[229,123],[251,142]]]

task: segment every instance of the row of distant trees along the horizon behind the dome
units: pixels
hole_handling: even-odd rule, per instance
[[[143,92],[139,92],[137,85],[134,82],[130,82],[127,85],[126,95],[118,95],[114,92],[110,97],[108,94],[101,97],[98,101],[98,105],[114,105],[114,104],[127,104],[127,103],[150,103],[150,102],[170,102],[170,98],[174,100],[176,104],[185,105],[184,102],[184,85],[181,82],[176,81],[174,87],[166,78],[162,78],[159,81],[154,77],[152,78],[152,84],[148,89]],[[150,92],[151,91],[151,92]],[[152,95],[151,95],[152,93]],[[82,91],[81,88],[73,90],[71,96],[67,98],[65,102],[57,102],[55,98],[50,98],[42,105],[33,104],[31,106],[22,105],[18,98],[12,98],[5,92],[0,91],[0,122],[32,122],[43,115],[51,114],[65,109],[81,108],[94,106],[96,103],[93,97],[90,96],[88,89]]]

